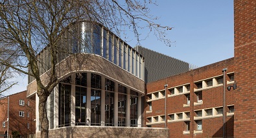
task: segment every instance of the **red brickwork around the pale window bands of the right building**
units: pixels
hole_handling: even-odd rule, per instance
[[[148,83],[146,85],[146,93],[154,93],[156,91],[164,91],[165,84],[168,84],[168,88],[176,86],[183,86],[184,84],[190,84],[190,105],[183,106],[183,104],[187,103],[187,98],[185,95],[176,95],[174,97],[167,98],[167,114],[172,113],[180,113],[184,111],[190,112],[190,133],[183,134],[183,130],[186,128],[185,121],[174,121],[168,122],[167,127],[169,128],[170,137],[222,137],[223,135],[223,117],[210,117],[207,119],[202,119],[202,130],[203,133],[194,133],[196,130],[196,122],[194,121],[194,117],[196,113],[194,110],[198,109],[207,109],[207,108],[215,108],[223,106],[223,84],[218,86],[213,86],[211,88],[202,89],[203,95],[203,104],[194,105],[194,102],[197,102],[197,95],[194,91],[196,85],[194,82],[205,80],[207,78],[213,78],[214,76],[222,76],[222,69],[227,67],[227,73],[233,73],[234,71],[234,58],[229,58],[227,60],[213,63],[211,65],[206,65],[204,67],[200,67],[198,69],[194,69],[185,73],[181,73],[179,75],[170,76],[163,80],[158,80],[156,82]],[[226,80],[229,80],[226,75]],[[170,95],[170,91],[167,91]],[[187,94],[187,93],[186,93]],[[147,98],[146,98],[147,99]],[[152,112],[149,112],[148,105],[145,106],[145,116],[146,117],[154,117],[157,115],[165,114],[165,98],[159,98],[158,100],[149,100],[152,102]],[[226,111],[229,111],[227,105],[234,104],[233,92],[226,91]],[[148,120],[145,117],[145,122]],[[167,115],[167,119],[170,120],[170,117]],[[152,127],[154,128],[164,128],[165,123],[153,123]],[[233,116],[226,117],[226,135],[229,137],[233,137]]]

